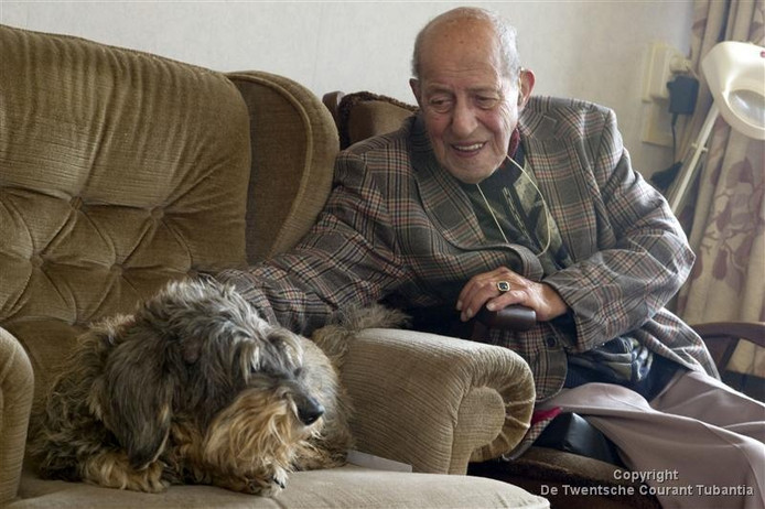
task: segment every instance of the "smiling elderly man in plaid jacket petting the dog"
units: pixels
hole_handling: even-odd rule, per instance
[[[413,74],[419,115],[341,153],[303,241],[222,278],[302,333],[380,300],[450,305],[463,321],[532,307],[532,329],[486,339],[527,359],[540,408],[586,415],[635,470],[677,470],[647,479],[669,506],[763,507],[765,407],[720,383],[700,338],[664,308],[693,254],[631,167],[613,111],[531,97],[515,31],[478,9],[431,21]]]

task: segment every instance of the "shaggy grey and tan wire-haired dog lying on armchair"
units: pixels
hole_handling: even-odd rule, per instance
[[[37,425],[43,477],[151,492],[273,496],[293,469],[342,465],[351,444],[328,357],[212,280],[171,283],[86,332]]]

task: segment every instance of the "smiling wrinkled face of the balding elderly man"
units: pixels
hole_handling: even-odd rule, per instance
[[[411,86],[439,163],[468,184],[494,173],[518,122],[519,87],[492,32],[467,24],[429,36]]]

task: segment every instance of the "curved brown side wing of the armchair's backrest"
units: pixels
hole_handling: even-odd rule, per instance
[[[247,259],[255,263],[294,246],[315,223],[332,187],[337,128],[319,98],[287,77],[227,77],[250,115]]]

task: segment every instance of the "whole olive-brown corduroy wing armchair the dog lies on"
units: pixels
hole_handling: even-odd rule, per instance
[[[324,204],[337,147],[323,105],[284,77],[0,26],[0,506],[548,507],[464,475],[522,437],[526,364],[407,331],[359,334],[341,375],[357,448],[413,473],[300,472],[277,499],[149,495],[43,480],[25,458],[32,408],[77,334],[170,280],[289,249]]]

